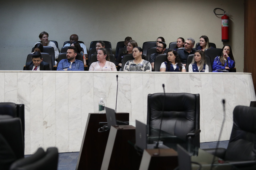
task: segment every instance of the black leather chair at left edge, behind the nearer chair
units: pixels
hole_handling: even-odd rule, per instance
[[[23,137],[25,133],[25,112],[24,104],[15,104],[11,102],[0,103],[0,115],[9,115],[12,117],[19,117],[22,125]]]

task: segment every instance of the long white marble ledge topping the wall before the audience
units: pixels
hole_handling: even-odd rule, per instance
[[[51,72],[51,73],[60,73],[60,72],[63,72],[63,73],[142,73],[142,74],[151,74],[151,73],[154,73],[154,74],[234,74],[234,75],[244,75],[244,74],[247,74],[247,75],[251,75],[252,73],[243,73],[243,72],[119,72],[119,71],[116,71],[116,72],[112,72],[112,71],[30,71],[30,70],[0,70],[0,72]]]

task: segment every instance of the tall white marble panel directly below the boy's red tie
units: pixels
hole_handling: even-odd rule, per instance
[[[43,147],[43,73],[30,73],[30,153]],[[25,125],[26,126],[26,125]]]

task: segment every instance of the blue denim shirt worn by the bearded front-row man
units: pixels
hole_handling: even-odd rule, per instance
[[[68,69],[68,71],[84,71],[84,64],[82,61],[80,60],[75,60],[72,65],[71,65],[71,69],[69,68],[70,66],[70,61],[68,59],[63,59],[59,62],[58,67],[57,67],[57,71],[63,71],[63,69]]]

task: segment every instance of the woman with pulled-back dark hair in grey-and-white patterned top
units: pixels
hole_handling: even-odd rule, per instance
[[[130,72],[151,72],[151,64],[150,62],[142,59],[142,49],[140,47],[134,47],[132,50],[134,60],[129,60],[125,63],[125,67],[123,71]]]

